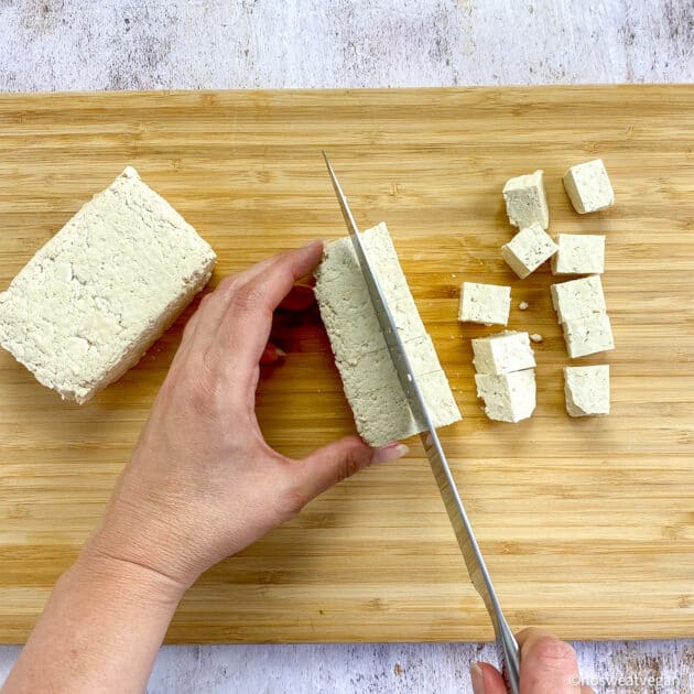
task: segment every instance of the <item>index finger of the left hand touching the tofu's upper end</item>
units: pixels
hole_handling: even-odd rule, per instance
[[[322,252],[321,241],[288,251],[246,284],[237,285],[230,292],[210,347],[213,358],[226,360],[235,369],[243,370],[257,365],[270,336],[272,312],[289,294],[294,282],[318,264]]]

